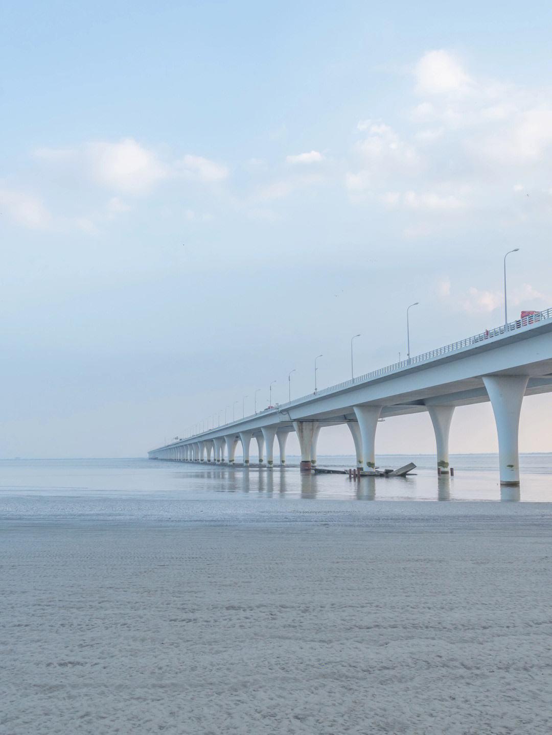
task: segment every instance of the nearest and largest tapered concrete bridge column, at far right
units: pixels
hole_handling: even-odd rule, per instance
[[[527,381],[528,376],[526,375],[483,376],[485,388],[491,399],[492,411],[495,414],[501,485],[520,484],[517,434]]]

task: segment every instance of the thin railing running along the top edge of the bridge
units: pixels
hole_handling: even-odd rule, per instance
[[[290,408],[290,406],[297,406],[297,404],[301,404],[304,401],[312,401],[313,398],[318,398],[320,395],[328,395],[329,393],[337,392],[338,390],[343,390],[344,388],[351,387],[358,383],[364,383],[365,381],[373,380],[374,378],[379,378],[389,373],[395,373],[395,371],[397,370],[404,370],[404,368],[411,368],[412,365],[420,365],[421,362],[429,362],[429,360],[433,360],[442,355],[448,355],[448,354],[451,354],[451,352],[463,350],[466,347],[470,347],[470,345],[478,345],[479,343],[487,343],[488,340],[492,340],[493,337],[498,337],[499,335],[506,334],[506,333],[509,334],[509,332],[511,331],[516,331],[517,329],[523,329],[523,327],[531,326],[540,321],[544,321],[545,319],[551,319],[551,318],[552,318],[552,309],[546,309],[544,312],[537,312],[536,314],[531,314],[521,319],[516,319],[515,321],[509,322],[508,324],[502,324],[501,326],[495,327],[495,329],[486,329],[480,334],[474,334],[473,337],[466,337],[465,340],[459,340],[458,342],[453,342],[450,345],[439,347],[436,350],[424,352],[423,354],[416,355],[415,357],[411,357],[410,359],[401,360],[401,362],[394,362],[393,365],[387,365],[385,368],[378,368],[378,370],[372,370],[371,373],[365,373],[364,375],[359,375],[358,378],[354,378],[351,380],[345,380],[343,381],[343,383],[337,383],[337,385],[331,385],[328,388],[317,390],[317,392],[315,393],[309,393],[308,395],[302,395],[301,398],[294,398],[293,401],[288,401],[285,404],[278,404],[274,409],[264,409],[263,411],[258,411],[256,414],[253,414],[251,416],[245,416],[244,418],[241,418],[240,420],[232,421],[231,423],[223,424],[222,426],[217,426],[215,429],[209,429],[208,431],[201,431],[201,433],[199,434],[191,434],[190,437],[185,437],[185,439],[180,439],[179,441],[185,441],[187,439],[191,439],[192,437],[201,437],[204,434],[211,434],[212,431],[218,431],[218,429],[224,429],[225,426],[230,427],[235,423],[243,423],[243,421],[252,419],[256,416],[261,416],[266,413],[270,413],[274,410],[281,411],[282,409]],[[172,443],[176,444],[178,442],[175,441]]]

